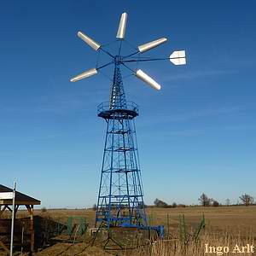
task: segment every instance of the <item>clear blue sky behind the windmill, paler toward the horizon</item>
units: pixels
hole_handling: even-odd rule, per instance
[[[0,183],[17,183],[40,207],[91,207],[97,198],[112,70],[78,83],[105,61],[77,37],[125,38],[148,56],[185,49],[186,66],[140,64],[162,89],[124,79],[136,102],[144,201],[198,204],[201,193],[256,199],[255,1],[2,1],[0,3]],[[128,47],[128,45],[127,45]],[[128,49],[129,50],[129,47]]]

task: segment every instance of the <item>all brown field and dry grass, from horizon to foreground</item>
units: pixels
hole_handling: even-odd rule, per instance
[[[139,247],[136,250],[114,252],[114,255],[207,255],[204,254],[205,243],[216,246],[234,247],[239,245],[253,245],[256,241],[256,207],[178,207],[178,208],[155,208],[148,207],[148,218],[151,225],[165,225],[166,241],[155,241],[148,247]],[[19,212],[20,215],[24,212]],[[89,227],[93,227],[95,211],[88,210],[41,210],[35,211],[36,215],[44,218],[53,218],[67,222],[68,216],[83,216],[87,219]],[[201,243],[195,244],[189,241],[184,247],[178,241],[177,230],[179,215],[184,214],[188,230],[192,232],[199,224],[202,215],[206,219],[206,229],[201,233]],[[169,221],[167,220],[167,215]],[[168,224],[169,223],[169,224]],[[89,239],[90,235],[87,236]],[[148,254],[149,253],[149,254]],[[2,255],[0,253],[0,255]],[[4,255],[4,254],[3,254]],[[24,255],[24,253],[23,253]],[[45,247],[35,255],[109,255],[105,253],[99,243],[90,247],[87,243],[71,241],[59,241],[54,245]],[[209,254],[211,255],[211,254]],[[216,254],[217,255],[217,254]],[[221,255],[221,254],[218,254]],[[225,253],[224,255],[245,255],[244,253]],[[255,255],[246,253],[246,255]]]

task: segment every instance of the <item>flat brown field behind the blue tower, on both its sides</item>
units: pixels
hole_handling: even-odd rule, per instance
[[[88,210],[47,210],[42,213],[36,210],[35,214],[50,216],[66,222],[68,216],[83,216],[87,219],[90,227],[94,226],[95,211]],[[147,209],[149,224],[165,225],[167,229],[167,215],[169,217],[169,230],[177,230],[178,217],[184,214],[189,226],[195,227],[204,214],[206,218],[207,229],[210,231],[237,234],[238,230],[241,236],[251,236],[256,238],[256,206],[251,207],[178,207],[178,208],[156,208]]]

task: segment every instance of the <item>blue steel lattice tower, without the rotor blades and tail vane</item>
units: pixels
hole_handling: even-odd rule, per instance
[[[98,108],[107,122],[96,224],[146,226],[143,185],[137,152],[134,118],[137,105],[126,102],[119,57],[115,58],[108,103]]]

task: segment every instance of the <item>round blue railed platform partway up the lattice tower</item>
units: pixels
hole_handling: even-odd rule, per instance
[[[134,119],[138,115],[138,106],[134,102],[126,102],[125,107],[111,107],[109,102],[102,102],[97,107],[97,114],[102,119]]]

